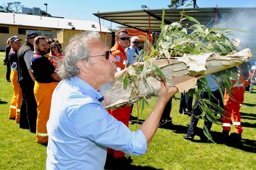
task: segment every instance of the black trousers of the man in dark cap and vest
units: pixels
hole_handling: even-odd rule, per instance
[[[20,106],[20,128],[36,133],[37,103],[34,95],[34,82],[20,83],[22,101]]]

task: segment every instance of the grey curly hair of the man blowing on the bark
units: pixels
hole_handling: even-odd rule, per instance
[[[63,52],[63,58],[58,63],[57,73],[61,79],[69,79],[79,73],[79,68],[76,63],[78,61],[87,61],[93,65],[92,60],[89,58],[90,52],[88,47],[92,41],[100,40],[98,32],[84,32],[73,36],[68,46]]]

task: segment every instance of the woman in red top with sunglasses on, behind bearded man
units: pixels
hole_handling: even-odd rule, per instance
[[[49,60],[54,65],[55,69],[57,69],[58,61],[62,58],[62,53],[60,51],[60,47],[57,42],[53,42],[50,44],[50,53]]]

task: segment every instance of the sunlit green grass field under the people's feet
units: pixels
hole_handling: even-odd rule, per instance
[[[0,56],[3,53],[0,52]],[[0,59],[3,63],[3,58]],[[8,119],[12,85],[5,79],[6,66],[0,66],[0,169],[5,170],[44,170],[46,146],[37,144],[35,134],[26,129],[19,129],[14,120]],[[256,87],[255,87],[256,89]],[[132,166],[121,169],[131,170],[255,170],[256,169],[256,90],[245,93],[241,107],[243,145],[203,143],[198,134],[193,141],[183,139],[188,129],[190,117],[178,112],[180,93],[172,100],[171,117],[173,126],[159,128],[153,138],[148,152],[143,156],[132,156]],[[139,116],[138,124],[130,125],[136,130],[154,107],[156,98],[150,100],[150,106]],[[203,120],[198,123],[202,130]],[[213,124],[212,136],[216,139],[222,131],[220,125]],[[234,132],[232,127],[231,132]],[[86,167],[85,167],[86,169]]]

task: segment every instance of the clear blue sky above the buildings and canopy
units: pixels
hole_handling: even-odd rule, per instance
[[[9,2],[5,1],[6,0],[2,0],[0,4]],[[44,4],[47,4],[47,13],[50,13],[52,16],[92,20],[99,23],[99,18],[92,13],[97,13],[98,11],[141,10],[141,5],[146,5],[149,9],[162,9],[168,8],[167,5],[170,4],[171,0],[19,0],[19,2],[21,5],[24,5],[24,7],[38,7],[44,11],[46,11],[46,5]],[[188,1],[188,3],[190,3],[190,1]],[[216,7],[216,4],[218,4],[218,7],[256,7],[256,0],[197,0],[197,6],[201,8]],[[112,27],[113,29],[117,29],[116,26],[119,26],[119,24],[111,23],[103,19],[100,19],[100,24],[106,28]]]

